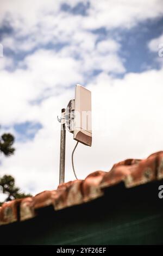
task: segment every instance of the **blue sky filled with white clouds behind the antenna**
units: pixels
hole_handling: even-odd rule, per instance
[[[77,83],[92,91],[93,118],[92,147],[74,154],[79,179],[162,150],[162,0],[0,0],[0,43],[1,134],[16,138],[0,175],[22,191],[57,188],[57,115]],[[76,142],[66,140],[69,181]]]

